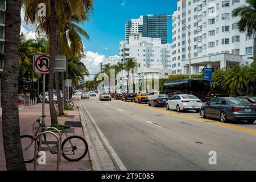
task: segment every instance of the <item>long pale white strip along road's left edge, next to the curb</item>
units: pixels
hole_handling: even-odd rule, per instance
[[[118,171],[127,171],[127,168],[122,163],[121,159],[119,158],[117,153],[114,151],[113,147],[110,145],[108,139],[106,139],[106,137],[100,130],[100,127],[98,127],[97,123],[94,121],[92,115],[90,115],[89,111],[86,109],[85,106],[82,105],[82,108],[85,110],[86,114],[88,115],[90,122],[92,123],[94,129],[96,130],[101,142],[104,144],[106,151],[108,151],[108,154],[109,154],[110,158],[112,159],[115,168],[117,168]]]

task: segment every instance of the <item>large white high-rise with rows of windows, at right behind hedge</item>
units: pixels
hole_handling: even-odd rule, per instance
[[[239,17],[232,11],[245,0],[177,0],[176,16],[191,32],[191,72],[201,69],[227,69],[234,64],[253,62],[253,37],[237,29]],[[188,31],[177,19],[172,22],[172,73],[189,73]]]

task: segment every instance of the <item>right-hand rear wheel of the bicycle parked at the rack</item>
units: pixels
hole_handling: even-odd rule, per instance
[[[82,137],[71,136],[63,141],[61,151],[64,159],[77,162],[87,154],[88,144]]]

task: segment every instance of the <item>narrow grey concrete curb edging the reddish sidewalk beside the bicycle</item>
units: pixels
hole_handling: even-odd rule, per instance
[[[89,135],[88,131],[86,130],[87,124],[86,124],[86,121],[85,121],[84,114],[82,114],[82,110],[81,110],[81,107],[80,107],[79,100],[77,100],[77,106],[79,106],[79,114],[81,116],[81,123],[82,123],[82,127],[83,127],[84,137],[85,137],[85,140],[88,144],[88,148],[91,149],[91,150],[88,150],[88,153],[89,153],[89,156],[90,156],[89,159],[92,162],[92,169],[93,169],[93,171],[101,171],[100,163],[97,160],[96,152],[95,152],[95,149],[94,149],[93,144],[91,142],[90,135]]]

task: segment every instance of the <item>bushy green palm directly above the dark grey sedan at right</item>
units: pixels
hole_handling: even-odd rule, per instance
[[[238,90],[246,93],[248,88],[249,78],[247,77],[248,67],[241,67],[239,64],[226,71],[224,78],[224,88],[229,88],[230,93],[237,96]]]

